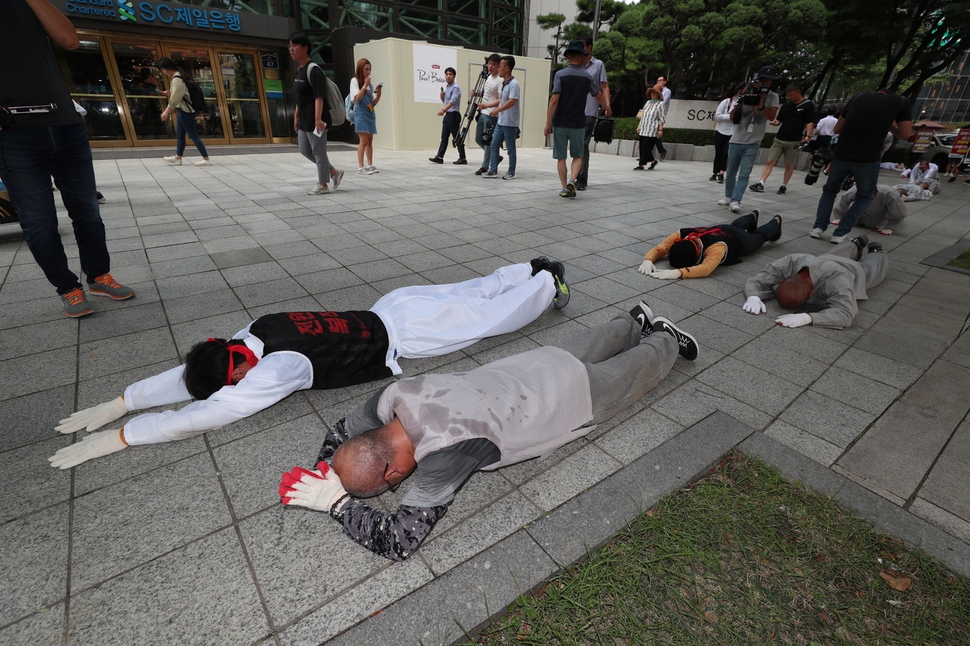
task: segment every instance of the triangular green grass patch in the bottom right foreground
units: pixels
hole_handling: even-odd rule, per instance
[[[473,643],[967,644],[970,582],[732,455]]]

